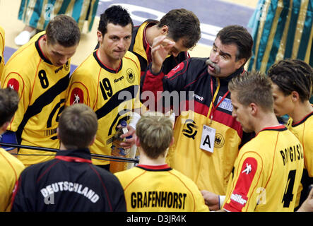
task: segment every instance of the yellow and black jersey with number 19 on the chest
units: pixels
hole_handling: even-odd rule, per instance
[[[111,155],[112,137],[122,120],[129,122],[131,112],[140,108],[140,64],[131,52],[126,52],[119,69],[102,64],[98,49],[78,66],[70,81],[66,106],[84,103],[98,117],[98,131],[90,152]],[[95,165],[109,161],[93,159]]]

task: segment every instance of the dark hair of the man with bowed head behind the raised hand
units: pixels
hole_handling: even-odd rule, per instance
[[[200,40],[199,18],[184,8],[173,9],[161,18],[158,27],[168,26],[168,36],[175,42],[183,38],[184,47],[190,49]]]

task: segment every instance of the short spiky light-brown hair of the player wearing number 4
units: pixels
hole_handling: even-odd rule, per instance
[[[228,83],[230,93],[236,92],[238,102],[247,106],[250,103],[273,112],[273,92],[270,79],[259,71],[252,71],[232,78]]]

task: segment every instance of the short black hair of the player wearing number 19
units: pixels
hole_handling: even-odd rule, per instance
[[[114,25],[120,25],[122,27],[125,27],[131,23],[131,30],[134,28],[134,23],[133,20],[131,20],[131,16],[125,8],[122,8],[122,6],[111,6],[101,14],[98,30],[102,33],[102,35],[105,35],[107,32],[108,23],[113,23]]]

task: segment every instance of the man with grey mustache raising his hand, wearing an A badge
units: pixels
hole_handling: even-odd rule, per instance
[[[174,44],[165,36],[155,38],[153,62],[142,82],[142,91],[153,91],[155,95],[158,90],[187,92],[195,97],[179,100],[189,108],[180,109],[175,143],[167,160],[170,167],[193,179],[199,189],[225,194],[238,148],[251,135],[244,133],[232,118],[228,82],[244,73],[244,64],[252,53],[252,36],[242,26],[225,27],[218,32],[209,60],[191,57],[165,76],[160,71]],[[162,87],[155,85],[160,81]]]

